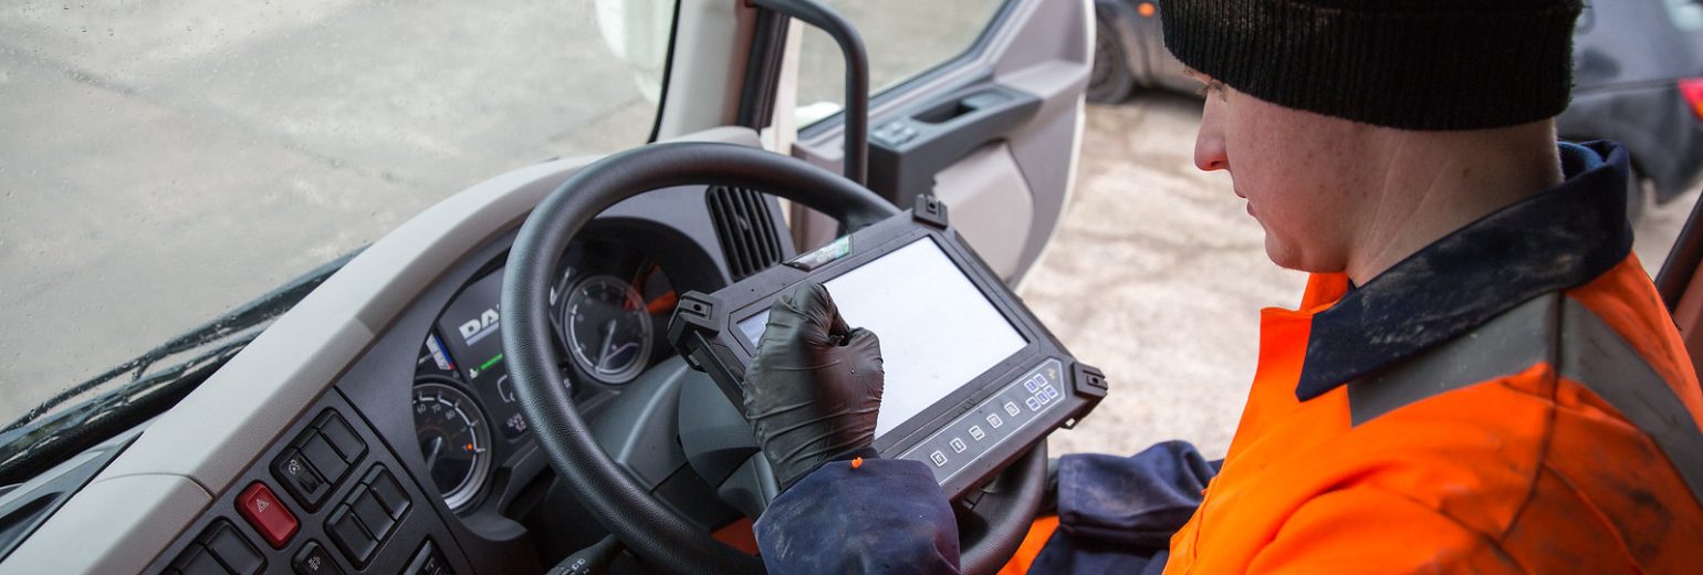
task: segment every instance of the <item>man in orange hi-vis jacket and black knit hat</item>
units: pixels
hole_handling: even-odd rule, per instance
[[[1013,566],[1703,565],[1703,396],[1630,250],[1626,151],[1555,136],[1579,10],[1167,2],[1165,43],[1207,92],[1196,165],[1311,276],[1298,308],[1262,311],[1221,468],[1180,442],[1064,456],[1056,531],[1037,522]],[[807,284],[760,347],[744,410],[783,487],[756,526],[770,570],[957,572],[930,471],[870,449],[875,333]]]

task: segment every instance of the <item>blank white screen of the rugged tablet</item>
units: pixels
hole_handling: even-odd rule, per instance
[[[846,325],[880,337],[887,384],[875,437],[899,427],[1029,342],[930,238],[829,279]],[[768,310],[739,322],[756,344]]]

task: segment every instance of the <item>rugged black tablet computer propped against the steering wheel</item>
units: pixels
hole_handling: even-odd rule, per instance
[[[804,281],[828,288],[852,327],[880,337],[882,458],[928,464],[949,497],[1071,427],[1105,398],[1105,376],[1076,362],[947,225],[916,208],[758,272],[715,294],[681,296],[669,339],[734,405],[768,308]]]

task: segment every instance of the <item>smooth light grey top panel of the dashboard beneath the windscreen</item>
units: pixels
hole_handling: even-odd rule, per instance
[[[681,139],[758,146],[756,133],[744,128]],[[158,417],[0,563],[0,573],[146,568],[427,286],[511,231],[591,160],[555,160],[494,177],[385,235]]]

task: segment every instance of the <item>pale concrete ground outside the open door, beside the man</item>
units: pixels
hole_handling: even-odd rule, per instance
[[[1061,453],[1132,454],[1185,439],[1223,458],[1253,379],[1259,310],[1306,277],[1265,259],[1230,177],[1194,168],[1201,102],[1138,94],[1090,105],[1076,196],[1022,296],[1112,393]],[[1654,276],[1698,194],[1647,206],[1635,250]]]

